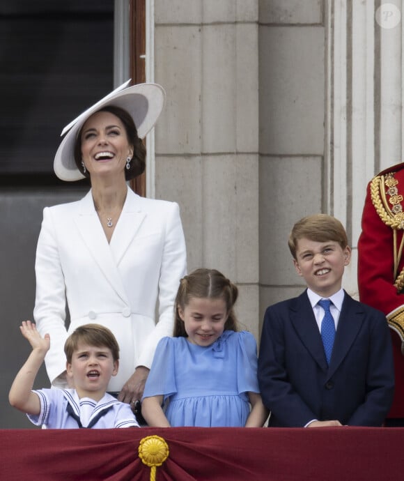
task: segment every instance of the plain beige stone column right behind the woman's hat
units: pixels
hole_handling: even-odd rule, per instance
[[[188,268],[238,284],[258,337],[258,0],[155,0],[155,197],[177,201]]]

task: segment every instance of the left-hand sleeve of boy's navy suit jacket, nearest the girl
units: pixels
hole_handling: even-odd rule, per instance
[[[283,427],[303,427],[317,419],[293,388],[286,372],[285,334],[281,312],[267,308],[258,355],[258,384],[263,404]]]

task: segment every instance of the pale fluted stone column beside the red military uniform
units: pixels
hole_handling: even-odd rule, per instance
[[[348,231],[353,255],[344,287],[353,296],[366,185],[401,162],[402,22],[394,26],[401,3],[327,1],[326,211]]]

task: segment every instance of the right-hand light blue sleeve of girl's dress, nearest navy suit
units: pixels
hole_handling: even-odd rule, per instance
[[[238,393],[260,392],[257,379],[257,343],[255,337],[242,330],[237,334],[237,383]]]

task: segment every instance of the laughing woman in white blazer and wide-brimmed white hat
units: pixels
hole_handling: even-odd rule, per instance
[[[63,181],[88,178],[91,190],[81,201],[44,210],[34,316],[40,333],[51,335],[47,373],[62,388],[70,381],[61,355],[65,337],[93,319],[109,328],[121,366],[108,389],[133,403],[143,393],[157,342],[172,333],[186,253],[178,205],[139,197],[127,186],[145,168],[141,139],[165,100],[160,85],[127,84],[64,129],[54,171]]]

